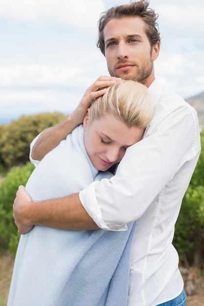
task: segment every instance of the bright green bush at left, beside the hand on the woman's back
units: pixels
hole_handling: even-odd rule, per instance
[[[27,162],[23,167],[12,167],[0,185],[0,249],[9,249],[15,255],[19,235],[13,219],[13,201],[19,185],[25,185],[34,169]]]

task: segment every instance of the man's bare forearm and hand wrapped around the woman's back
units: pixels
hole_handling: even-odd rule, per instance
[[[72,230],[98,228],[81,204],[78,193],[59,199],[32,202],[25,188],[20,186],[13,211],[19,234],[28,232],[34,225]]]

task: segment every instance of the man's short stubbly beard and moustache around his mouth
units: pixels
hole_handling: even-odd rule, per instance
[[[134,68],[136,68],[135,72],[131,72],[131,71],[120,71],[119,73],[116,73],[115,67],[120,65],[120,64],[132,64],[134,65]],[[147,61],[147,63],[143,64],[143,66],[138,67],[137,64],[135,63],[130,63],[129,61],[125,60],[119,60],[117,65],[113,66],[113,69],[108,67],[109,73],[111,76],[117,77],[117,78],[121,78],[123,80],[133,80],[133,81],[137,81],[140,83],[144,83],[145,80],[150,76],[150,74],[152,73],[153,70],[153,61],[151,58],[149,58],[149,60]]]

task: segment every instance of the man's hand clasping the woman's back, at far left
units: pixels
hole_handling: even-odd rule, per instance
[[[29,232],[33,228],[33,225],[28,224],[25,213],[25,208],[27,209],[30,202],[32,202],[32,199],[25,192],[25,188],[23,186],[19,186],[13,204],[13,217],[20,235]]]

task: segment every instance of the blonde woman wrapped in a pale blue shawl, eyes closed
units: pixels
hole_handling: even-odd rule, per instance
[[[40,201],[111,179],[108,169],[141,140],[152,115],[145,86],[120,81],[109,87],[83,125],[39,162],[26,191]],[[21,236],[7,306],[126,305],[135,226],[124,232],[35,226]]]

